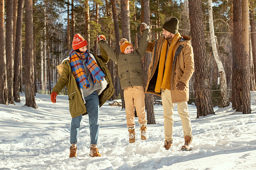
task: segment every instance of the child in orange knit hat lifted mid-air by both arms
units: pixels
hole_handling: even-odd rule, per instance
[[[118,75],[121,88],[124,90],[124,102],[126,110],[127,128],[129,131],[129,142],[136,141],[135,138],[135,123],[134,123],[134,108],[136,108],[139,117],[141,140],[146,140],[147,137],[147,119],[145,115],[145,93],[141,59],[145,55],[149,29],[145,24],[141,24],[140,31],[142,33],[138,48],[135,50],[131,42],[122,38],[119,41],[121,53],[117,53],[105,41],[105,37],[100,35],[98,44],[104,49],[106,54],[113,61],[117,62]]]

